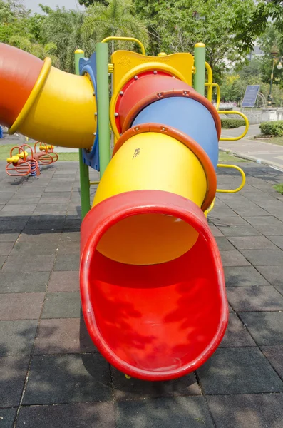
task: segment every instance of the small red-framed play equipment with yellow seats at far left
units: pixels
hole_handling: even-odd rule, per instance
[[[58,154],[53,151],[54,146],[36,141],[34,150],[29,144],[11,148],[7,158],[6,173],[11,177],[40,174],[40,165],[50,165],[58,161]]]

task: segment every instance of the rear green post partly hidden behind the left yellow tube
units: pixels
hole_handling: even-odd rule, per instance
[[[84,52],[81,49],[75,51],[75,70],[76,74],[79,74],[78,63],[80,58],[84,57]],[[88,165],[83,163],[83,150],[78,149],[79,165],[80,165],[80,183],[81,183],[81,218],[85,217],[88,211],[91,209],[91,196],[90,196],[90,184],[89,184],[89,171]]]

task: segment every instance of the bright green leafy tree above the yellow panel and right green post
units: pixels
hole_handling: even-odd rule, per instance
[[[253,0],[135,0],[150,32],[150,51],[190,51],[197,41],[207,46],[207,61],[216,74],[239,63],[249,49],[239,39],[238,23],[252,15]]]

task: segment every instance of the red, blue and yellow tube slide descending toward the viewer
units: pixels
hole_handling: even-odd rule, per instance
[[[220,118],[156,70],[121,88],[113,113],[121,136],[81,228],[83,315],[119,370],[175,379],[200,367],[227,327],[204,214],[215,198]]]

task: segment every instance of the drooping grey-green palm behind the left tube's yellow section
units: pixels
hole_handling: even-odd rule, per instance
[[[42,22],[43,39],[56,44],[56,56],[65,71],[74,71],[73,53],[76,49],[83,49],[86,56],[95,50],[96,41],[91,36],[87,37],[84,31],[84,19],[84,11],[57,7],[55,10],[49,9],[48,16]]]

